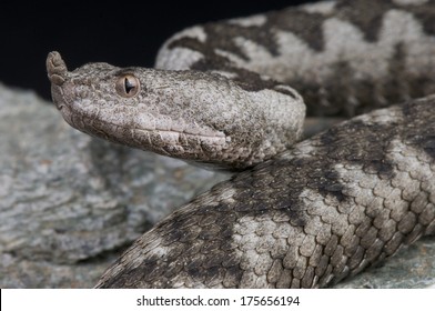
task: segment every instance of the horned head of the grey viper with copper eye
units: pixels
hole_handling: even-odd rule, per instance
[[[249,92],[216,73],[102,62],[68,71],[58,52],[49,53],[47,70],[53,102],[73,128],[211,168],[241,170],[284,150],[302,122],[287,114],[304,112],[294,100],[285,107],[284,94],[272,101],[289,113],[267,109],[273,91]],[[290,127],[276,126],[276,116]]]

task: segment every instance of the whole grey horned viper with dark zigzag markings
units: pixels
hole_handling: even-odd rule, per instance
[[[326,287],[434,234],[434,54],[431,0],[196,26],[166,41],[156,69],[68,71],[51,52],[53,100],[72,127],[243,170],[144,233],[97,287]],[[382,109],[294,144],[303,102],[310,114]]]

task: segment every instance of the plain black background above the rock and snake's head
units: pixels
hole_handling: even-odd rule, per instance
[[[70,70],[92,61],[152,67],[163,41],[185,27],[307,1],[2,2],[0,82],[49,99],[45,57],[52,50]]]

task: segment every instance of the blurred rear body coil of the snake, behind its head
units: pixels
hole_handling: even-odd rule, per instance
[[[317,116],[354,116],[427,96],[435,92],[434,2],[395,2],[330,1],[266,13],[261,24],[209,23],[205,40],[189,30],[170,39],[156,67],[186,69],[178,59],[199,51],[203,57],[189,68],[270,76],[296,89]]]

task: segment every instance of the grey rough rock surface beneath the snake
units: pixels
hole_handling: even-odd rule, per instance
[[[92,139],[0,84],[0,288],[91,288],[120,252],[227,175]],[[344,288],[435,283],[435,239]]]

